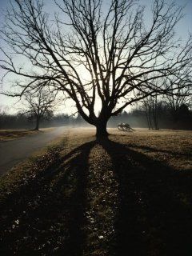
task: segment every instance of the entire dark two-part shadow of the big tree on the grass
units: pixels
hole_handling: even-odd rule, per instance
[[[72,150],[9,198],[2,255],[84,255],[88,160],[97,143],[110,155],[118,182],[109,256],[191,255],[191,174],[110,140]]]

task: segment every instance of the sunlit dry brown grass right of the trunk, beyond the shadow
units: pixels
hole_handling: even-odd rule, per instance
[[[138,128],[133,133],[124,133],[111,130],[110,138],[176,170],[192,169],[192,131]]]

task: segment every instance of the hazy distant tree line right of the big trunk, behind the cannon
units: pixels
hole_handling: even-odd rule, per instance
[[[132,127],[149,130],[174,129],[192,130],[192,110],[185,103],[173,109],[165,102],[143,102],[131,112],[126,111],[110,118],[108,126],[117,126],[119,122],[128,122]]]

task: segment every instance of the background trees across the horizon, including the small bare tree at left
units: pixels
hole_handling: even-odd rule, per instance
[[[78,112],[77,115],[55,114],[54,111],[60,104],[55,96],[56,94],[44,90],[43,87],[37,91],[32,88],[23,94],[22,108],[18,114],[8,114],[0,106],[0,129],[38,130],[38,126],[89,126]],[[120,122],[149,130],[192,130],[191,86],[178,89],[175,94],[151,94],[129,113],[122,111],[112,116],[107,126],[117,127]]]

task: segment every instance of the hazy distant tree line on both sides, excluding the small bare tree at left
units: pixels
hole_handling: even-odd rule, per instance
[[[127,122],[131,127],[158,129],[181,129],[192,130],[192,109],[186,103],[176,108],[169,106],[166,102],[154,98],[147,102],[141,102],[127,113],[123,111],[115,117],[110,118],[108,127],[117,127],[119,122]],[[0,109],[0,129],[34,129],[35,117],[18,113],[8,114],[6,110]],[[52,114],[45,116],[40,122],[41,127],[50,126],[88,126],[80,114],[77,116],[68,114]]]

